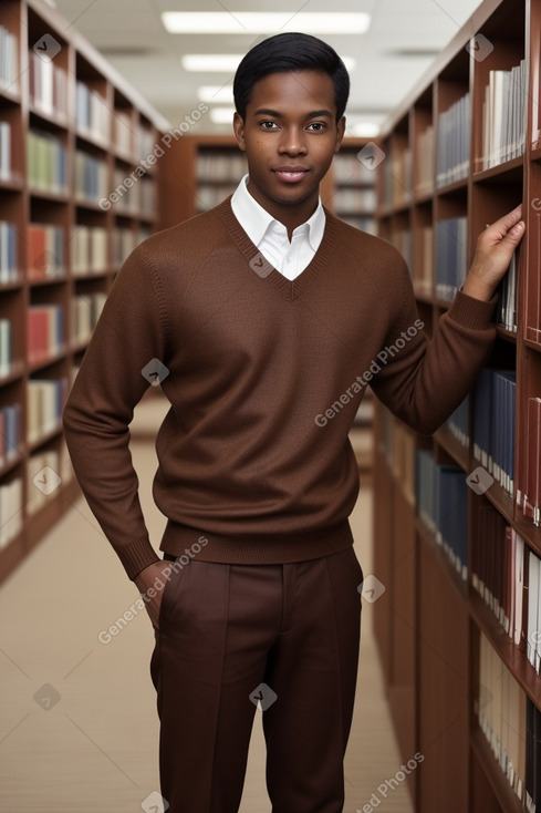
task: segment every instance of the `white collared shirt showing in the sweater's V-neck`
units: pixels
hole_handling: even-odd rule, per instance
[[[325,213],[321,197],[314,214],[294,229],[290,243],[283,223],[274,219],[250,195],[247,181],[248,174],[232,195],[233,215],[263,257],[284,277],[295,279],[311,263],[323,239]]]

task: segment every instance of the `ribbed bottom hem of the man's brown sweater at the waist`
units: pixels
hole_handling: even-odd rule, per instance
[[[169,519],[160,550],[200,562],[228,565],[283,565],[340,553],[353,545],[347,519],[336,525],[292,534],[225,536]]]

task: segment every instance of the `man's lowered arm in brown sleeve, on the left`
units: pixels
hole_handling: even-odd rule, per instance
[[[128,445],[134,408],[149,385],[142,371],[166,359],[163,299],[157,271],[139,246],[107,297],[63,414],[77,480],[132,579],[158,562]]]

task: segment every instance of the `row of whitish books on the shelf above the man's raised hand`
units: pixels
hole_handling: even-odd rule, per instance
[[[510,71],[489,71],[482,105],[482,168],[518,158],[524,153],[528,63]]]

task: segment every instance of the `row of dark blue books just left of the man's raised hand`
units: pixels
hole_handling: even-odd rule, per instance
[[[468,271],[468,218],[436,223],[436,297],[452,301]]]

